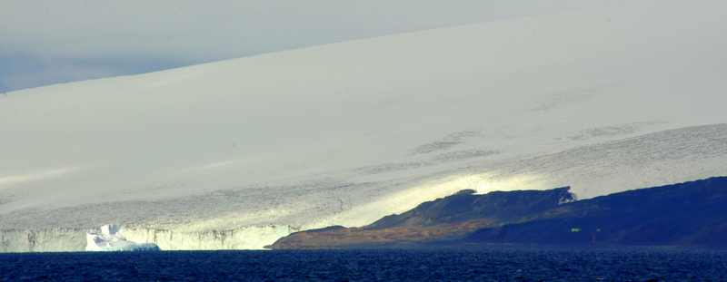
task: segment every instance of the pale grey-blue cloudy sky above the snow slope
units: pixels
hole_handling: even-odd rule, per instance
[[[636,0],[0,0],[0,92]]]

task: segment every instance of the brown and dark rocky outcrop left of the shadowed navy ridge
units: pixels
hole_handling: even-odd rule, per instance
[[[452,196],[424,202],[400,215],[379,219],[363,228],[331,227],[296,232],[266,248],[351,248],[382,244],[432,243],[465,238],[477,229],[520,222],[533,214],[573,199],[569,188],[555,190],[494,191],[473,195],[462,190]]]

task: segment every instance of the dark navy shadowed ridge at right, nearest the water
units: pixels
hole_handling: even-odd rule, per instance
[[[727,178],[629,190],[563,204],[522,223],[478,229],[470,243],[727,247]]]

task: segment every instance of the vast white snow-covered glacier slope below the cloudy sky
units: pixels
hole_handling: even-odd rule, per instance
[[[468,188],[727,175],[725,10],[644,1],[7,92],[0,229],[259,229],[230,246],[260,248]]]

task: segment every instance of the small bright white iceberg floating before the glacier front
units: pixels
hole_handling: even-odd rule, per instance
[[[101,230],[90,230],[86,233],[88,245],[86,251],[149,251],[161,250],[154,243],[136,243],[127,241],[124,230],[118,223],[107,224]]]

